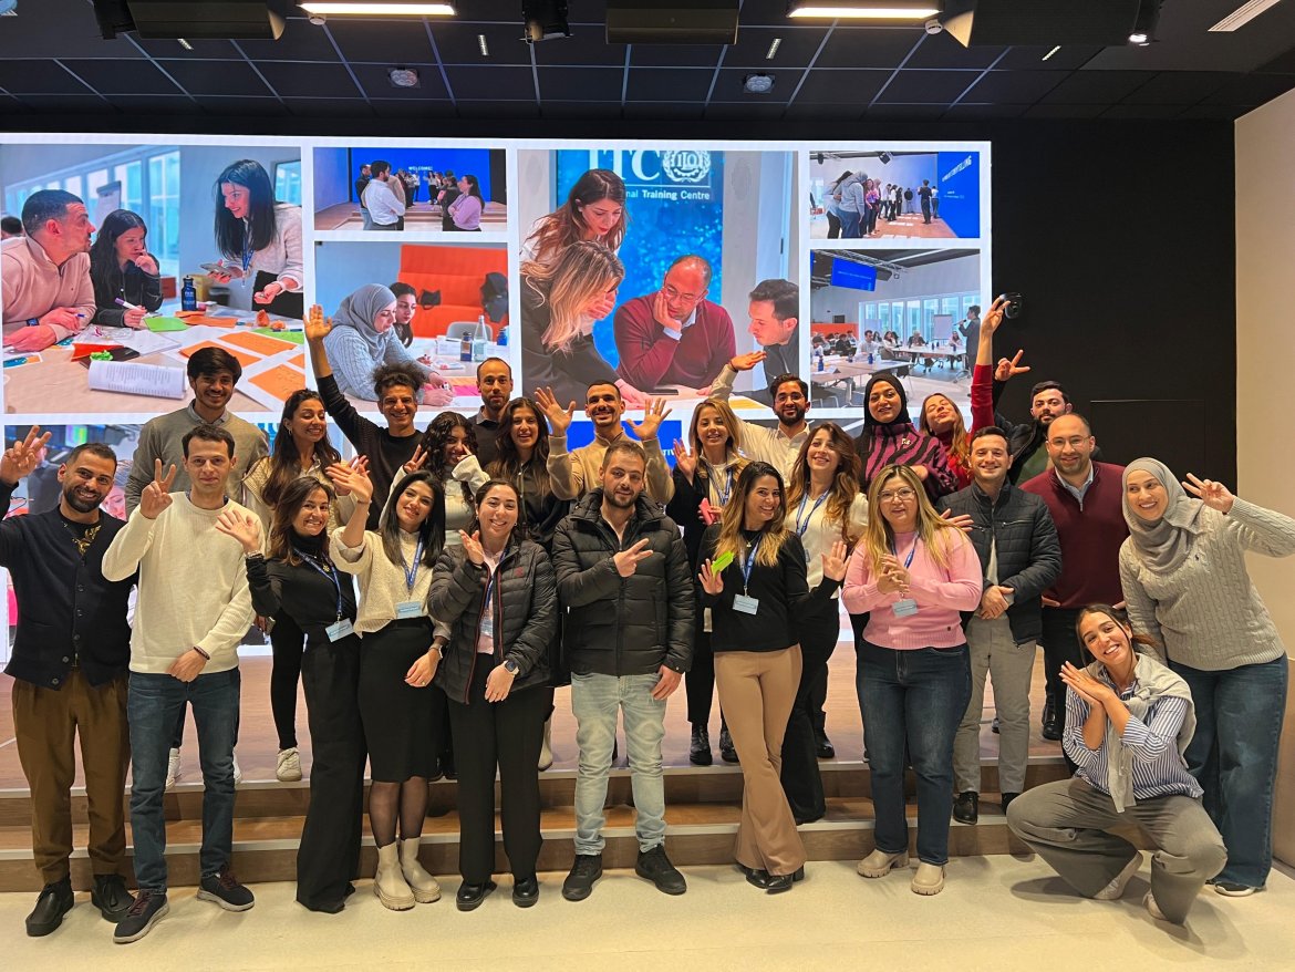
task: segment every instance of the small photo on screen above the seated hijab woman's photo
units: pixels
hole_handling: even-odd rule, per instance
[[[501,149],[315,149],[315,228],[475,233],[508,228]]]

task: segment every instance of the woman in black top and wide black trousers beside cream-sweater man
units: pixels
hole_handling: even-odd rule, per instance
[[[333,489],[313,477],[289,483],[275,505],[269,557],[260,553],[260,525],[227,511],[216,529],[243,546],[247,583],[258,614],[291,618],[306,632],[302,684],[315,762],[311,802],[297,851],[297,901],[337,914],[355,890],[364,815],[364,728],[360,724],[360,639],[355,635],[355,587],[329,559]]]

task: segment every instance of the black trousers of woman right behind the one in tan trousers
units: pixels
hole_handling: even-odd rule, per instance
[[[826,813],[822,776],[818,772],[817,741],[813,728],[812,695],[820,675],[828,674],[828,658],[840,631],[840,601],[817,607],[800,617],[800,687],[791,704],[791,717],[782,737],[782,792],[787,794],[796,822],[817,820]]]

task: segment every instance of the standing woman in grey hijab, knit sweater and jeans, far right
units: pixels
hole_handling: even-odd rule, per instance
[[[1190,495],[1189,495],[1190,494]],[[1286,710],[1286,647],[1246,569],[1246,553],[1295,553],[1295,520],[1155,459],[1124,469],[1120,582],[1133,631],[1191,688],[1185,753],[1228,845],[1215,890],[1244,897],[1272,867],[1273,783]]]

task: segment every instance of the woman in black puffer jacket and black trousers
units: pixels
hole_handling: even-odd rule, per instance
[[[495,770],[513,903],[540,897],[540,776],[544,719],[553,705],[548,651],[558,596],[548,555],[513,535],[521,498],[504,480],[477,492],[474,531],[436,560],[427,609],[452,634],[435,686],[449,700],[458,767],[456,903],[471,911],[495,890]]]

